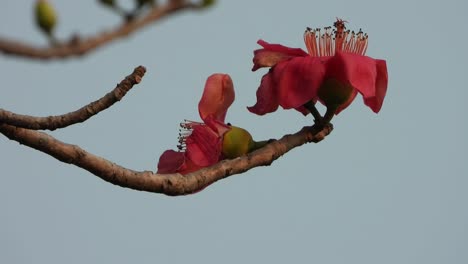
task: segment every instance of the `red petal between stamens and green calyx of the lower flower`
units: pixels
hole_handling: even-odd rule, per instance
[[[209,126],[197,125],[186,139],[187,157],[197,166],[206,167],[219,161],[221,137]]]

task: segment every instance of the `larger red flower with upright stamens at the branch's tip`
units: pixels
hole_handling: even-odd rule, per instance
[[[271,68],[262,77],[257,103],[249,111],[264,115],[282,106],[307,114],[304,104],[320,101],[338,114],[360,93],[364,103],[378,113],[387,91],[386,62],[364,56],[367,34],[346,31],[344,23],[338,19],[334,30],[325,27],[323,33],[307,28],[308,53],[259,40],[263,48],[254,51],[252,71]]]

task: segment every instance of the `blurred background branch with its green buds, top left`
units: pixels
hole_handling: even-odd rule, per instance
[[[135,10],[126,12],[116,5],[111,6],[110,3],[113,1],[99,1],[103,5],[112,7],[113,10],[117,10],[117,13],[124,18],[122,24],[111,31],[97,33],[95,36],[82,37],[74,35],[69,40],[59,41],[52,34],[51,29],[54,26],[53,24],[56,23],[56,14],[52,8],[43,8],[43,6],[39,5],[44,2],[41,0],[37,2],[36,22],[40,29],[48,36],[50,45],[47,47],[36,47],[32,44],[0,37],[0,52],[11,56],[43,60],[82,56],[114,40],[127,37],[131,33],[163,18],[181,11],[201,10],[214,3],[214,1],[208,0],[197,3],[187,0],[169,0],[164,4],[156,4],[154,1],[138,1],[141,4],[138,4]],[[149,8],[148,12],[142,12],[144,4]],[[44,15],[45,18],[40,15]]]

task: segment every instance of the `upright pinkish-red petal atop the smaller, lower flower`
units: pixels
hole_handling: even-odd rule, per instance
[[[206,80],[198,112],[203,121],[212,118],[224,122],[227,110],[234,102],[234,85],[227,74],[213,74]]]

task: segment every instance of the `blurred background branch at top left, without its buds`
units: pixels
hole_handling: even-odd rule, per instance
[[[86,39],[74,36],[68,42],[58,43],[55,46],[44,48],[35,47],[19,41],[0,38],[0,52],[8,55],[44,60],[81,56],[113,40],[127,37],[130,33],[133,33],[150,23],[161,20],[171,14],[183,10],[201,8],[201,4],[194,4],[187,1],[168,1],[165,5],[153,8],[144,17],[124,22],[122,25],[110,32],[101,32],[94,37]]]

